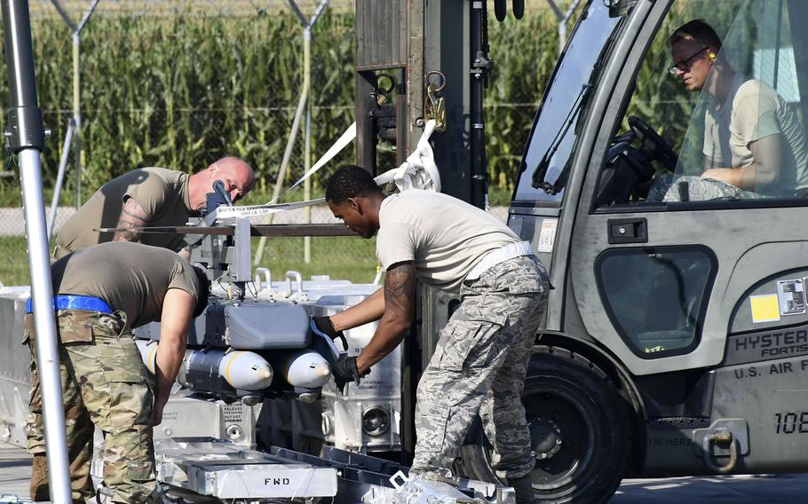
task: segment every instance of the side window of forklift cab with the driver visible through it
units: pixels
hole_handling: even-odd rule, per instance
[[[797,0],[672,2],[593,206],[804,204],[806,21]]]

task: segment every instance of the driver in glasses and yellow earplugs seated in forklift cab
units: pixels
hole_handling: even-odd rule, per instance
[[[692,20],[669,39],[671,75],[688,91],[704,91],[704,172],[682,177],[692,201],[715,198],[802,198],[808,192],[808,151],[794,110],[767,84],[736,73],[721,39]],[[667,194],[666,194],[667,193]],[[676,201],[680,190],[655,185],[649,201]]]

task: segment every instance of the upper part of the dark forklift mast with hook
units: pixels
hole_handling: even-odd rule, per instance
[[[479,29],[473,33],[471,18],[485,7],[486,2],[479,0],[356,0],[356,163],[360,167],[375,174],[392,168],[377,166],[380,143],[395,147],[397,165],[407,158],[421,138],[424,123],[434,115],[432,94],[445,104],[446,129],[431,138],[443,192],[485,205],[482,122],[476,122],[476,138],[471,135],[475,80],[471,39],[480,36]],[[427,89],[430,85],[432,93]],[[475,152],[480,162],[472,173]]]

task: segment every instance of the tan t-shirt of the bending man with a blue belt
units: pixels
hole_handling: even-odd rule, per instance
[[[170,288],[197,299],[194,267],[167,248],[111,241],[83,248],[51,265],[53,294],[91,295],[126,313],[126,327],[160,319]]]

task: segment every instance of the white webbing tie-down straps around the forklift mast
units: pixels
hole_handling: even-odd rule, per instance
[[[440,172],[438,171],[438,165],[435,164],[435,155],[432,153],[432,146],[429,145],[429,138],[432,136],[434,130],[435,121],[430,119],[426,122],[424,133],[421,135],[421,139],[418,140],[415,152],[410,154],[407,161],[401,163],[399,168],[385,171],[383,174],[374,178],[376,184],[384,185],[393,182],[400,192],[407,191],[408,189],[424,189],[425,191],[440,193]],[[305,175],[300,177],[289,189],[300,184],[306,178],[311,177],[317,170],[325,166],[334,156],[339,154],[345,146],[350,144],[355,137],[356,122],[354,122],[348,130],[345,130],[345,133],[329,148],[328,152],[323,154],[320,160],[314,163],[314,166],[305,172]],[[265,217],[277,212],[302,209],[324,202],[324,198],[318,198],[316,200],[296,201],[292,203],[273,203],[270,201],[265,205],[219,207],[217,210],[208,214],[201,225],[211,225],[214,220],[233,217]]]

